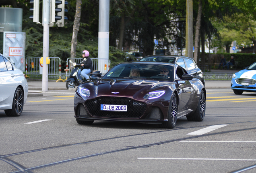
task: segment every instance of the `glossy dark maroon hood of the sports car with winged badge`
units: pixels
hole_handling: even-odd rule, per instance
[[[134,95],[145,95],[151,91],[169,87],[171,82],[145,80],[145,79],[102,79],[98,82],[98,96],[122,95],[134,97]]]

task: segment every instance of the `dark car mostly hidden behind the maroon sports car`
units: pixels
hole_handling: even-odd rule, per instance
[[[178,64],[186,69],[188,74],[193,75],[194,78],[200,79],[201,82],[205,84],[203,72],[200,68],[198,68],[196,62],[192,58],[176,55],[149,55],[141,58],[139,61],[169,62]]]

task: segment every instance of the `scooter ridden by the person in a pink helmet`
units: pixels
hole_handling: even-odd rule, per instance
[[[84,58],[84,60],[86,60],[86,59]],[[80,69],[81,64],[76,64],[76,62],[72,62],[71,60],[69,60],[69,62],[71,64],[73,64],[74,69],[72,70],[69,78],[66,80],[66,88],[67,89],[74,88],[74,87],[80,85],[82,82],[87,81],[84,77],[78,75],[78,70]],[[95,76],[93,76],[93,74],[89,75],[89,81],[96,80],[96,79],[97,78]]]

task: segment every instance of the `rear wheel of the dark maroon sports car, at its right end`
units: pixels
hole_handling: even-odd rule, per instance
[[[191,115],[186,116],[188,121],[203,121],[205,116],[205,108],[206,108],[206,97],[204,91],[200,94],[200,99],[198,101],[198,105],[196,107],[196,111]]]

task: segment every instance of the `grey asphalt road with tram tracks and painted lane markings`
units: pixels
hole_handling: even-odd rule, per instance
[[[174,129],[95,121],[78,125],[74,91],[28,97],[20,117],[0,111],[1,173],[256,172],[256,93],[206,89],[202,122]]]

